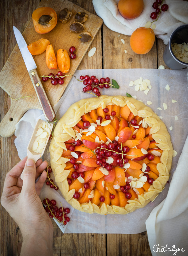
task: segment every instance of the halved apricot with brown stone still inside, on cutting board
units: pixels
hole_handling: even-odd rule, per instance
[[[53,30],[58,21],[56,12],[50,7],[37,8],[32,14],[32,19],[35,31],[39,34]]]

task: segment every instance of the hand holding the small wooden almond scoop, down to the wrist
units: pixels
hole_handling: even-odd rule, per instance
[[[45,231],[49,233],[49,230],[53,234],[53,225],[38,196],[47,177],[43,172],[47,162],[39,159],[34,164],[33,160],[26,160],[27,157],[7,173],[1,204],[18,224],[23,237]],[[24,179],[21,180],[23,169]]]

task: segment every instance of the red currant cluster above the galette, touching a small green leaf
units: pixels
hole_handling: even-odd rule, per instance
[[[111,84],[109,77],[102,77],[99,79],[96,78],[96,76],[80,76],[80,79],[83,80],[83,84],[85,87],[83,87],[83,92],[89,92],[91,91],[91,94],[95,94],[97,97],[100,96],[99,89],[96,86],[99,86],[99,88],[110,88]],[[93,86],[93,87],[92,87]]]

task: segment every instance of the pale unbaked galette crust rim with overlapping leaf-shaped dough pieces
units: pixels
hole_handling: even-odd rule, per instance
[[[127,105],[133,115],[138,115],[144,118],[145,123],[151,127],[150,134],[152,134],[153,139],[158,143],[157,146],[163,150],[160,157],[161,163],[157,164],[159,177],[153,182],[148,191],[145,191],[142,195],[138,195],[138,198],[135,200],[128,200],[128,204],[126,204],[125,207],[109,206],[105,203],[99,207],[92,204],[91,201],[89,201],[89,203],[80,204],[78,200],[73,198],[75,190],[72,189],[69,191],[67,177],[70,170],[64,169],[68,159],[61,156],[63,149],[66,150],[64,142],[72,137],[75,138],[75,132],[72,127],[81,120],[81,116],[84,113],[86,114],[98,107],[105,108],[107,105],[114,104],[119,105],[120,107]],[[163,190],[169,179],[173,148],[166,126],[150,107],[147,107],[144,103],[130,97],[102,95],[99,98],[80,100],[68,108],[54,129],[49,151],[51,156],[51,167],[55,180],[64,198],[68,203],[70,203],[70,205],[79,211],[87,213],[127,214],[138,208],[146,206],[147,203],[155,199],[158,193]]]

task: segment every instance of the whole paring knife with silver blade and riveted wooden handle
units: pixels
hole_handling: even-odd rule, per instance
[[[21,55],[26,64],[27,71],[33,83],[34,89],[36,91],[36,95],[38,97],[39,103],[41,105],[42,111],[47,121],[53,121],[56,118],[56,114],[53,110],[53,107],[48,99],[48,96],[43,88],[41,83],[41,79],[37,74],[36,64],[33,59],[33,56],[29,52],[27,48],[26,41],[21,34],[21,32],[13,26],[14,35],[16,37],[16,41],[18,43],[19,49],[21,51]]]

